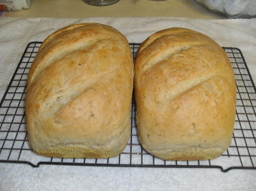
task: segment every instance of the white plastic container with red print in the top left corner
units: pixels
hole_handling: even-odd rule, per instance
[[[0,11],[19,11],[29,6],[30,0],[0,0]]]

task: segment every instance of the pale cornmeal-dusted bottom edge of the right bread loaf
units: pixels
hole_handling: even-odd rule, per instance
[[[182,148],[147,150],[149,153],[164,160],[208,160],[216,159],[227,148]]]

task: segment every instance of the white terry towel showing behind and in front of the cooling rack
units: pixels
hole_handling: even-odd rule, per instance
[[[256,82],[256,19],[200,20],[170,17],[143,18],[0,18],[0,98],[23,51],[66,25],[98,22],[122,32],[129,42],[142,42],[153,32],[185,27],[202,32],[221,46],[239,48]],[[0,191],[254,191],[256,170],[115,168],[0,163]]]

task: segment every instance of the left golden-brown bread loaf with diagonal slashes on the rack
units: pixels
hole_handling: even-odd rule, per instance
[[[124,35],[97,23],[67,26],[31,66],[26,123],[32,149],[49,157],[108,158],[130,136],[133,60]]]

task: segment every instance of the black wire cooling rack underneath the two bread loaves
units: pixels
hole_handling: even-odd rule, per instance
[[[123,152],[109,159],[60,159],[36,155],[28,144],[25,122],[25,95],[27,75],[42,42],[30,42],[18,64],[12,80],[0,103],[0,162],[26,163],[32,167],[41,164],[119,166],[119,167],[172,167],[256,169],[256,88],[243,54],[237,48],[223,47],[236,78],[237,104],[235,127],[231,146],[219,158],[198,161],[173,161],[155,158],[140,145],[137,135],[136,104],[131,103],[131,136]],[[140,43],[130,43],[133,57]]]

